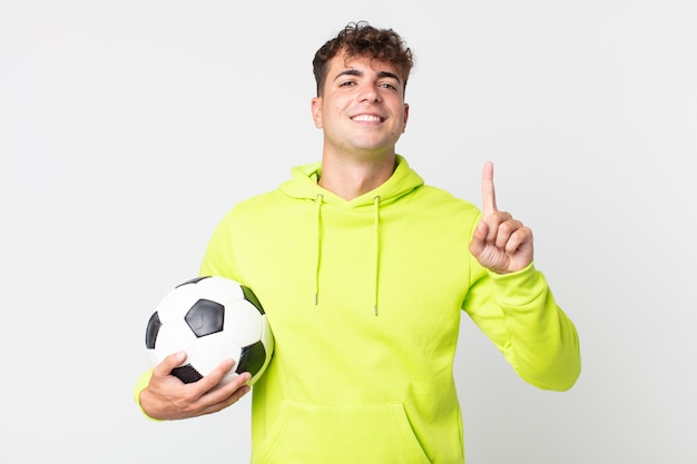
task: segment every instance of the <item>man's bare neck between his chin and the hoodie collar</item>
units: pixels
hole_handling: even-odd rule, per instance
[[[383,185],[394,172],[394,154],[379,159],[333,158],[322,159],[320,186],[352,200]]]

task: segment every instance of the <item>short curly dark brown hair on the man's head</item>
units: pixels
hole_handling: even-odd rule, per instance
[[[391,62],[404,80],[404,88],[414,66],[411,49],[395,31],[374,28],[367,21],[350,22],[335,38],[324,43],[312,60],[318,97],[324,92],[328,61],[340,52],[345,52],[346,58],[369,57]]]

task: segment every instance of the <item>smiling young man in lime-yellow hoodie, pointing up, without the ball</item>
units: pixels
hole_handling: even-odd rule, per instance
[[[322,161],[236,205],[200,274],[251,288],[276,349],[254,386],[254,463],[462,463],[452,374],[464,310],[527,382],[565,391],[576,328],[533,266],[532,233],[497,209],[426,186],[395,154],[412,55],[392,30],[351,23],[315,55]],[[234,362],[184,385],[165,359],[136,386],[153,418],[223,409],[249,391]]]

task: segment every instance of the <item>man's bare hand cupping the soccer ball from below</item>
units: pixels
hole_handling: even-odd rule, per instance
[[[156,419],[179,419],[216,413],[235,404],[246,395],[249,373],[239,374],[232,381],[219,385],[220,379],[235,365],[234,359],[226,359],[213,372],[198,382],[183,383],[171,375],[171,369],[186,359],[186,353],[167,356],[153,369],[148,386],[140,392],[140,407],[148,416]]]

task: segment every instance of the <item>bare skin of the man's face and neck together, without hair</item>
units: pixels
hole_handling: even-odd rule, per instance
[[[320,186],[350,200],[392,176],[409,118],[404,81],[392,63],[334,57],[312,117],[324,136]]]

